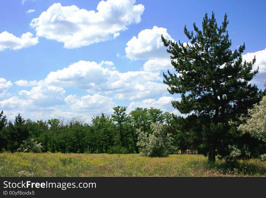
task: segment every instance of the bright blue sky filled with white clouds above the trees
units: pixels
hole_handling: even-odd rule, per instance
[[[225,13],[231,49],[245,42],[243,58],[256,56],[251,81],[266,80],[266,1],[1,0],[0,110],[9,120],[111,115],[171,106],[163,72],[174,71],[161,42],[189,42],[184,26],[201,27],[205,13],[218,25]]]

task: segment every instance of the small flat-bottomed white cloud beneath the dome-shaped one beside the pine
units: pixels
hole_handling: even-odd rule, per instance
[[[174,69],[173,66],[171,65],[171,60],[170,58],[155,58],[148,60],[143,64],[143,70],[144,71],[166,71],[167,69],[172,70]]]

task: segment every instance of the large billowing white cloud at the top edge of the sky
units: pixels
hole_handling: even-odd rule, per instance
[[[87,46],[115,38],[130,24],[139,23],[144,5],[134,4],[135,0],[101,1],[96,12],[56,3],[34,18],[31,27],[37,36],[63,42],[65,48]]]

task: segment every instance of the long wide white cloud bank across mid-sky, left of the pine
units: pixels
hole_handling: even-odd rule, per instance
[[[103,64],[104,63],[104,64]],[[108,63],[108,64],[107,64]],[[73,86],[91,92],[114,94],[116,99],[143,99],[161,96],[167,92],[160,72],[110,70],[112,62],[79,61],[67,68],[50,72],[44,83],[53,86]],[[159,81],[159,82],[158,82]]]

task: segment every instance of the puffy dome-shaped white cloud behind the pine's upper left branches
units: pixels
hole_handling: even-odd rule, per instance
[[[127,42],[127,47],[125,48],[126,57],[131,60],[170,58],[161,40],[161,35],[167,40],[174,41],[167,33],[166,28],[154,26],[152,30],[142,30],[138,33],[138,38],[133,36]]]

